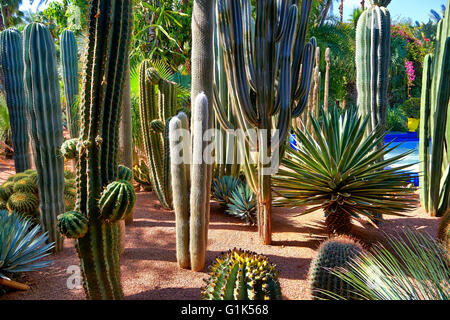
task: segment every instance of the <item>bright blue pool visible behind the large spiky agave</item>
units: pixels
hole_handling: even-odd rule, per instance
[[[416,132],[409,133],[396,133],[392,132],[386,135],[384,139],[385,143],[391,143],[391,147],[398,146],[395,150],[390,152],[386,158],[392,158],[402,153],[413,150],[411,154],[397,162],[393,167],[401,167],[404,165],[411,165],[408,171],[412,173],[411,182],[415,186],[419,185],[419,137]],[[293,136],[290,138],[292,148],[296,148],[296,141]]]

